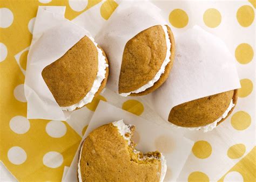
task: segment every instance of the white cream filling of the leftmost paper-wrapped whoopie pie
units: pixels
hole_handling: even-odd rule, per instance
[[[88,36],[88,37],[91,39],[91,41],[96,46],[98,51],[98,72],[96,75],[96,79],[93,82],[91,90],[84,96],[82,100],[80,100],[78,103],[73,104],[71,106],[60,107],[64,111],[72,111],[72,110],[75,110],[76,108],[83,107],[87,103],[90,103],[93,97],[95,96],[95,94],[98,92],[100,85],[102,85],[102,81],[105,79],[106,67],[108,67],[109,65],[106,63],[103,52],[98,47],[98,44],[95,43],[95,40],[91,36]]]

